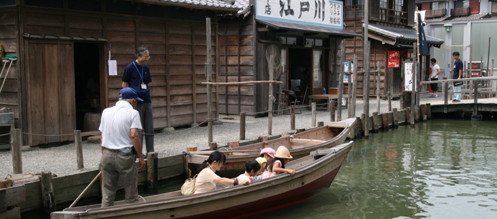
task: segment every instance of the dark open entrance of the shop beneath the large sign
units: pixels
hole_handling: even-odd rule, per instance
[[[295,92],[300,103],[306,100],[311,90],[312,50],[288,49],[288,90]]]

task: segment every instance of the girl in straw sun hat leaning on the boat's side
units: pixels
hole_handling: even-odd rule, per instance
[[[288,159],[292,159],[290,151],[285,146],[279,146],[274,154],[274,158],[269,160],[266,164],[264,172],[262,173],[262,179],[276,176],[280,173],[289,173],[291,175],[295,174],[295,170],[285,169],[285,164],[288,163]]]

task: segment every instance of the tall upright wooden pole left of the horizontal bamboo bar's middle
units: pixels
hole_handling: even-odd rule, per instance
[[[212,82],[212,56],[211,56],[211,18],[205,18],[206,33],[207,33],[207,62],[205,63],[205,73],[207,74],[207,82]],[[212,84],[207,84],[207,146],[211,147],[212,143]]]

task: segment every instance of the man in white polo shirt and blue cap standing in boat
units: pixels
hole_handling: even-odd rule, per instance
[[[138,171],[134,147],[145,167],[138,129],[142,129],[136,108],[140,99],[133,88],[123,88],[116,106],[104,109],[98,130],[102,132],[102,207],[113,206],[119,178],[123,181],[126,203],[138,202]]]

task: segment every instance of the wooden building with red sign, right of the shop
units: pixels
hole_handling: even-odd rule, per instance
[[[345,29],[363,34],[363,0],[344,0],[344,4]],[[380,62],[380,70],[383,72],[380,78],[380,95],[382,96],[388,91],[398,96],[404,90],[404,63],[412,62],[415,54],[413,53],[413,43],[416,43],[414,13],[414,0],[369,0],[370,69],[376,70],[376,63]],[[428,35],[426,38],[429,46],[439,48],[443,43],[442,39]],[[353,60],[354,54],[358,55],[357,67],[361,69],[363,66],[362,38],[346,40],[346,60]],[[429,69],[429,59],[424,60],[423,63],[421,65],[422,75],[426,75]],[[362,94],[363,76],[358,75],[357,81],[357,94]],[[376,95],[376,76],[371,75],[369,83],[369,94]]]

